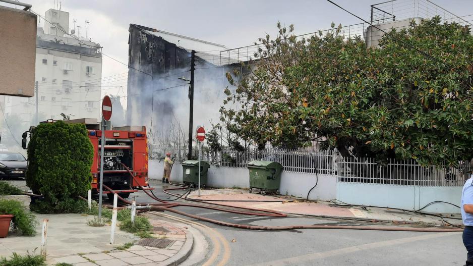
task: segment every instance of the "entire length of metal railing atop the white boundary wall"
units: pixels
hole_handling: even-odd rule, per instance
[[[150,145],[151,159],[163,159],[167,152],[175,162],[187,160],[187,147],[159,147]],[[197,149],[192,157],[197,159]],[[388,184],[405,186],[462,186],[469,178],[471,167],[459,162],[457,167],[448,164],[440,166],[421,166],[415,160],[397,161],[388,159],[385,164],[375,158],[342,157],[336,150],[319,149],[280,149],[258,150],[248,148],[235,150],[222,148],[210,150],[203,148],[202,160],[213,166],[245,168],[255,160],[280,163],[284,172],[333,175],[338,182]]]

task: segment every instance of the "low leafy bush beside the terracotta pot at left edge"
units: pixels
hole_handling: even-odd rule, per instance
[[[14,215],[13,230],[21,232],[22,235],[33,236],[36,234],[38,222],[20,201],[0,199],[0,215]]]

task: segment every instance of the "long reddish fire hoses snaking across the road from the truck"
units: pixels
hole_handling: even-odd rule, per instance
[[[130,176],[133,180],[138,183],[133,173],[130,169],[122,163],[125,169],[128,171]],[[139,184],[139,183],[138,183]],[[115,192],[106,185],[103,185],[105,189],[107,189],[110,193]],[[409,231],[409,232],[461,232],[463,231],[462,228],[414,228],[414,227],[387,227],[387,226],[341,226],[341,225],[293,225],[293,226],[253,226],[253,225],[242,225],[242,224],[234,224],[234,223],[227,223],[222,222],[214,219],[205,218],[202,216],[188,214],[187,212],[173,209],[173,207],[177,206],[187,206],[187,207],[197,207],[197,208],[206,208],[206,209],[213,209],[213,210],[220,210],[225,212],[232,212],[235,214],[242,214],[242,215],[252,215],[252,216],[264,216],[264,217],[287,217],[285,214],[281,214],[280,212],[271,211],[271,210],[262,210],[256,208],[249,208],[249,207],[239,207],[240,209],[244,209],[244,211],[233,210],[233,209],[226,209],[226,208],[219,208],[219,207],[212,207],[212,206],[201,206],[196,204],[183,204],[183,203],[172,203],[162,199],[155,197],[154,195],[150,194],[143,186],[139,185],[139,188],[142,189],[149,197],[154,200],[159,201],[159,203],[137,203],[138,206],[150,206],[150,209],[156,211],[170,211],[174,212],[175,214],[179,214],[182,216],[186,216],[189,218],[197,219],[200,221],[209,222],[216,225],[227,226],[227,227],[234,227],[234,228],[241,228],[241,229],[249,229],[249,230],[266,230],[266,231],[276,231],[276,230],[294,230],[294,229],[351,229],[351,230],[375,230],[375,231]],[[173,188],[173,189],[182,189],[182,188]],[[120,195],[117,197],[125,202],[126,204],[131,204],[129,200],[124,199]],[[210,203],[213,205],[220,205],[225,206],[218,203]],[[252,210],[252,211],[248,211]],[[258,212],[254,212],[258,211]]]

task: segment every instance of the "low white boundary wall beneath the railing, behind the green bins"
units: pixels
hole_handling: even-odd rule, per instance
[[[162,173],[163,162],[150,160],[149,177],[160,180]],[[182,176],[182,165],[174,164],[171,181],[182,182]],[[250,186],[247,168],[211,166],[207,182],[207,186],[216,188],[248,188]],[[282,195],[306,198],[315,182],[315,174],[282,172],[279,191]],[[336,175],[319,175],[317,187],[312,190],[309,199],[331,200],[336,198],[349,204],[417,210],[432,201],[446,201],[459,205],[461,189],[459,186],[403,186],[337,182]],[[422,211],[456,214],[460,210],[449,204],[436,203]]]

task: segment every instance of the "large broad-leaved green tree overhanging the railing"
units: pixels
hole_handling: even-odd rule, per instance
[[[392,30],[379,47],[344,38],[341,26],[298,39],[260,39],[246,73],[227,73],[235,89],[221,108],[228,129],[258,144],[302,147],[322,141],[343,156],[456,164],[473,151],[473,36],[440,23]],[[333,28],[333,25],[332,25]]]

